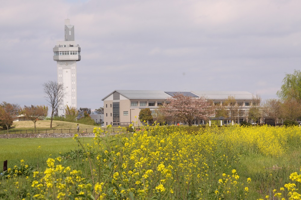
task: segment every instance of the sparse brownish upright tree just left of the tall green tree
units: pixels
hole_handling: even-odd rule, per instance
[[[281,116],[281,102],[279,99],[270,98],[265,100],[264,103],[265,117],[269,117],[275,120],[275,126],[277,125],[277,119]]]

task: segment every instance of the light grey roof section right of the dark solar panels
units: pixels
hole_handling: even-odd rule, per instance
[[[234,96],[235,99],[252,99],[250,92],[241,91],[191,91],[198,96],[204,96],[206,99],[226,99],[228,96]]]

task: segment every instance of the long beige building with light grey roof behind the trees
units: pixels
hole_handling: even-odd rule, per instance
[[[239,122],[245,120],[247,111],[253,101],[250,92],[235,91],[191,91],[191,92],[163,92],[159,90],[114,90],[104,97],[104,125],[126,126],[132,121],[138,121],[141,109],[150,108],[155,113],[156,108],[167,102],[167,98],[176,93],[182,93],[195,98],[204,97],[207,101],[223,104],[229,96],[233,96],[243,111]],[[212,116],[214,117],[214,116]],[[203,120],[197,120],[196,125],[203,124]]]

